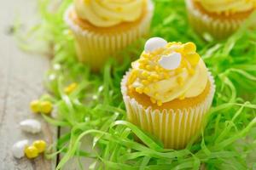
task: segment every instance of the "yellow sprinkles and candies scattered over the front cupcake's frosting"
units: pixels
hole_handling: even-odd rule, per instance
[[[163,55],[171,54],[172,52],[177,52],[182,55],[182,60],[180,65],[175,70],[166,70],[161,67],[158,63]],[[158,48],[151,53],[145,53],[141,55],[138,59],[139,69],[131,71],[131,76],[129,77],[128,84],[132,84],[137,78],[140,79],[141,86],[134,88],[138,94],[149,93],[148,84],[152,82],[159,82],[161,80],[168,79],[172,76],[177,76],[181,73],[183,69],[187,69],[189,75],[195,73],[195,66],[198,64],[200,55],[196,53],[196,46],[193,42],[181,43],[181,42],[169,42],[166,44],[165,48]],[[183,78],[177,77],[177,83],[183,86]],[[129,88],[133,88],[129,86]],[[162,105],[162,101],[157,101],[155,96],[151,98],[152,103],[157,105]],[[183,96],[180,97],[183,99]]]

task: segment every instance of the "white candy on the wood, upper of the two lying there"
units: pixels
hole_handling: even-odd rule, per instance
[[[20,122],[20,128],[26,133],[39,133],[41,132],[41,123],[35,119],[26,119]]]

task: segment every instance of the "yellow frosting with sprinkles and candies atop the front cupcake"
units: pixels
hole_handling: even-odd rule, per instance
[[[173,99],[192,98],[207,86],[207,67],[193,42],[166,42],[150,38],[140,58],[131,64],[127,86],[162,105]]]

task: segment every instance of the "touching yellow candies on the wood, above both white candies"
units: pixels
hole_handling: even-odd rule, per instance
[[[34,113],[41,112],[44,114],[49,114],[52,111],[53,106],[49,101],[33,100],[30,103],[30,109]]]

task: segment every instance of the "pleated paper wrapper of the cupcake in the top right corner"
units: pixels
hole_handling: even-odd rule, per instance
[[[192,0],[186,0],[186,6],[189,16],[189,23],[194,30],[199,33],[209,33],[215,39],[224,39],[234,33],[244,20],[221,20],[204,14],[201,10],[195,8]]]

